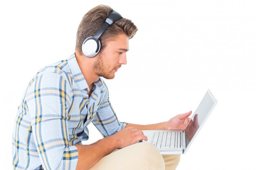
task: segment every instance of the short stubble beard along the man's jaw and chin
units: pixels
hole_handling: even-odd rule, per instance
[[[99,57],[96,62],[93,64],[93,71],[99,77],[104,77],[105,79],[113,79],[115,77],[115,73],[111,74],[112,70],[110,70],[110,66],[104,64],[102,59],[102,55],[99,54]]]

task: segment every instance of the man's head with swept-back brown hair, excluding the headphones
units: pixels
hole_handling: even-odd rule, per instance
[[[113,79],[115,72],[122,64],[126,64],[126,52],[129,50],[128,40],[137,32],[137,27],[126,18],[121,18],[108,26],[101,35],[101,51],[92,58],[85,57],[82,52],[83,41],[93,36],[105,23],[112,8],[99,5],[86,13],[79,25],[76,35],[76,53],[82,55],[87,63],[92,64],[92,74],[106,79]]]

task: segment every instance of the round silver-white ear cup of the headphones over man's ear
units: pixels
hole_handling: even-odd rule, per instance
[[[82,52],[86,57],[94,57],[101,49],[101,42],[95,41],[93,37],[88,37],[83,41]]]

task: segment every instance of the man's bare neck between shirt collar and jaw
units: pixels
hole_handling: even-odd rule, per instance
[[[85,57],[84,55],[81,55],[77,52],[75,53],[75,56],[79,68],[82,71],[83,77],[85,77],[85,81],[90,87],[93,82],[96,82],[99,79],[99,76],[96,75],[93,71],[93,63],[95,61],[95,58]]]

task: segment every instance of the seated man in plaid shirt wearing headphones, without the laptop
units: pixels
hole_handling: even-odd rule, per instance
[[[151,144],[137,142],[147,140],[141,130],[184,129],[191,111],[158,124],[119,122],[101,78],[113,79],[127,63],[128,40],[136,31],[130,20],[108,6],[85,14],[75,53],[42,68],[27,86],[13,130],[14,169],[176,168],[179,155],[161,156]],[[89,138],[90,122],[104,138],[82,145]]]

